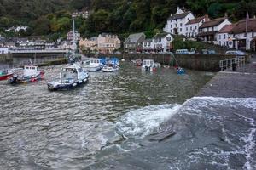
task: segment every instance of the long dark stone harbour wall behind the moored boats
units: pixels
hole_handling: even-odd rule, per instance
[[[92,57],[92,55],[89,55]],[[99,57],[117,57],[119,59],[154,59],[163,65],[175,65],[196,71],[220,71],[219,61],[231,59],[230,55],[208,54],[99,54]],[[248,60],[248,59],[247,59]]]

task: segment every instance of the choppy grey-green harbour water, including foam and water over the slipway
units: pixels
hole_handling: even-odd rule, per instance
[[[46,79],[56,77],[60,68],[45,67]],[[253,167],[255,117],[233,107],[221,116],[226,110],[218,109],[215,100],[192,99],[194,106],[182,105],[212,76],[199,71],[179,76],[171,69],[148,73],[125,63],[115,73],[91,73],[88,84],[72,91],[49,92],[44,81],[20,86],[0,82],[0,169],[186,169],[189,162],[207,167],[209,160],[220,168],[229,162]],[[244,108],[245,113],[252,112]],[[183,115],[177,114],[180,110]],[[228,124],[221,122],[226,118]],[[234,125],[236,119],[241,122]],[[172,127],[177,127],[174,135]],[[163,139],[167,134],[173,137]],[[210,151],[207,144],[212,144]],[[235,161],[228,156],[235,151],[242,158],[240,164],[236,156]],[[226,157],[218,156],[222,152]]]

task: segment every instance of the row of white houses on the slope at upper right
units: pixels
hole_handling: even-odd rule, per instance
[[[214,20],[207,15],[195,18],[190,11],[177,7],[176,14],[171,14],[163,31],[226,48],[256,50],[255,17],[232,24],[226,14]]]

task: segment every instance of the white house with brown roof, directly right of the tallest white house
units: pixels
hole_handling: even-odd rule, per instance
[[[206,21],[209,20],[208,15],[204,15],[192,20],[189,20],[185,25],[185,36],[188,38],[195,38],[197,37],[199,27]]]

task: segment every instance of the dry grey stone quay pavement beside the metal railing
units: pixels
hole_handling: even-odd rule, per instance
[[[256,98],[256,55],[244,68],[218,72],[197,96]]]

